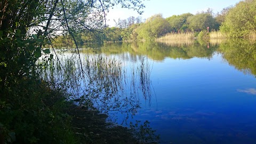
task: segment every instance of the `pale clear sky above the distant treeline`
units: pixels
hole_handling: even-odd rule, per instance
[[[115,26],[115,20],[127,19],[128,17],[141,16],[142,20],[151,17],[154,14],[162,13],[164,18],[171,17],[172,15],[179,15],[183,13],[196,14],[197,12],[206,11],[208,8],[213,9],[214,13],[220,12],[223,8],[230,5],[235,5],[241,0],[150,0],[143,1],[145,8],[143,14],[139,15],[137,12],[128,9],[121,9],[115,6],[110,9],[106,19],[107,25]]]

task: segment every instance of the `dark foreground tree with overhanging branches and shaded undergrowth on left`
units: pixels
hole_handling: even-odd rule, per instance
[[[73,61],[65,63],[67,65],[60,63],[56,54],[61,49],[52,46],[54,38],[63,36],[62,43],[78,44],[78,38],[89,31],[84,37],[91,41],[96,33],[100,33],[98,30],[105,27],[103,17],[109,6],[121,4],[140,13],[143,7],[141,1],[10,0],[0,3],[0,143],[80,143],[82,139],[94,142],[95,135],[101,133],[93,132],[90,125],[75,127],[77,119],[74,117],[79,109],[73,107],[69,85],[54,85],[57,81],[53,77],[57,74],[50,73],[52,77],[47,79],[42,70],[56,66],[58,74],[66,76],[63,78],[77,78],[66,71],[76,69],[84,73],[84,68],[82,65],[74,67],[71,65]],[[75,53],[78,53],[80,63],[79,50],[76,49]],[[51,65],[52,62],[58,65]],[[75,80],[70,84],[77,85]],[[87,111],[90,113],[90,109],[87,108]],[[98,110],[94,112],[96,114]],[[90,121],[97,123],[93,118]],[[103,123],[105,118],[98,120]],[[147,127],[148,122],[143,125],[146,126],[142,126],[143,130],[151,131]],[[86,129],[89,133],[81,134],[75,129]],[[122,134],[125,131],[128,132],[125,129]],[[130,136],[138,143],[145,142],[133,137],[133,134]],[[109,135],[102,138],[111,139]]]

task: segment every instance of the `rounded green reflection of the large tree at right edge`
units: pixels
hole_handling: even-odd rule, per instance
[[[256,75],[256,42],[249,39],[229,39],[220,44],[219,51],[229,65],[245,74]]]

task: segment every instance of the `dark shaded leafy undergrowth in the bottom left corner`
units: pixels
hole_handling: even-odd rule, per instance
[[[71,119],[63,113],[66,107],[63,93],[33,78],[16,82],[8,99],[0,101],[4,137],[20,143],[75,143],[70,131]]]

